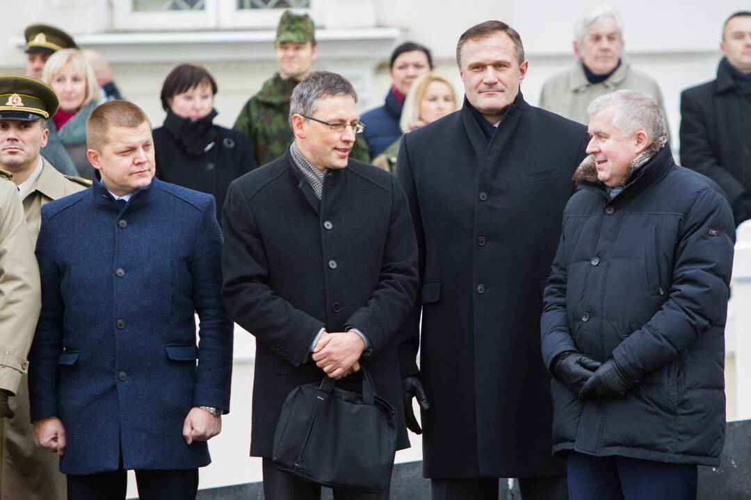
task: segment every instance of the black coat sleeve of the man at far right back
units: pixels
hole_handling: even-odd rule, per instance
[[[701,104],[689,91],[680,94],[680,163],[715,181],[731,203],[746,193],[743,184],[719,164]]]

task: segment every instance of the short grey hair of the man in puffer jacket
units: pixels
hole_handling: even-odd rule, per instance
[[[593,100],[587,106],[587,113],[591,117],[608,106],[613,106],[615,111],[611,124],[625,136],[644,130],[647,141],[653,142],[668,133],[665,115],[650,94],[626,88],[617,90]]]

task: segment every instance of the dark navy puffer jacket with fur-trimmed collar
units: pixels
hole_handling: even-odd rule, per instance
[[[735,229],[708,178],[668,146],[609,199],[585,160],[544,294],[542,355],[615,358],[638,384],[578,400],[553,379],[553,453],[719,465]]]

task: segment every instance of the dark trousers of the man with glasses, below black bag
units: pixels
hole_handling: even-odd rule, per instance
[[[321,487],[280,471],[269,458],[264,458],[264,499],[321,500]],[[388,500],[388,489],[381,493],[359,493],[333,490],[333,500]]]

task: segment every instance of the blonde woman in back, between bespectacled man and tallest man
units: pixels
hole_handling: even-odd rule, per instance
[[[457,94],[454,85],[444,76],[431,71],[420,76],[407,92],[399,125],[403,133],[427,125],[457,110]],[[382,154],[375,157],[373,165],[389,172],[397,171],[400,137]]]

